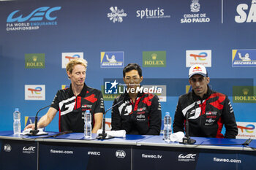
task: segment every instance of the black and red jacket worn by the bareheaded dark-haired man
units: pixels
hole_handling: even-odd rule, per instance
[[[162,123],[162,111],[159,98],[151,93],[138,93],[135,102],[128,93],[118,96],[112,109],[111,130],[125,130],[127,134],[159,135]]]

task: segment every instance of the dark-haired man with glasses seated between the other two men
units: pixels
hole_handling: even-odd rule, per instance
[[[112,109],[112,129],[125,130],[127,134],[159,135],[162,112],[159,99],[151,93],[143,93],[140,82],[142,70],[137,63],[129,63],[123,70],[123,80],[127,85],[125,93],[118,96]]]

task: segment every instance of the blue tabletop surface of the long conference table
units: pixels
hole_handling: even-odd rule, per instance
[[[158,146],[158,147],[189,147],[200,149],[217,149],[217,150],[246,150],[255,151],[256,141],[252,139],[248,145],[244,145],[246,139],[220,139],[220,138],[205,138],[192,137],[195,139],[195,144],[180,144],[178,142],[165,142],[162,140],[162,135],[129,135],[125,137],[115,137],[113,139],[96,139],[97,134],[92,134],[92,139],[85,139],[83,133],[62,134],[55,136],[59,132],[48,132],[42,136],[27,136],[13,134],[12,131],[0,131],[0,139],[14,140],[34,140],[36,142],[68,142],[68,143],[91,143],[91,144],[128,144],[135,146]]]

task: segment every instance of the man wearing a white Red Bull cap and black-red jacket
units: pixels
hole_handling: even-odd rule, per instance
[[[188,117],[189,136],[236,138],[238,128],[230,100],[225,94],[211,90],[209,82],[206,67],[194,65],[189,69],[192,92],[178,98],[173,132],[184,131]],[[221,134],[223,125],[225,136]]]

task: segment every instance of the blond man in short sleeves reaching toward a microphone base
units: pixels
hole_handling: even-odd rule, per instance
[[[70,87],[58,90],[48,112],[39,120],[37,127],[44,128],[59,111],[59,131],[84,131],[84,112],[90,110],[92,133],[102,125],[104,101],[100,90],[86,85],[87,61],[83,58],[75,58],[67,63],[67,76],[71,81]],[[34,129],[34,124],[26,128]],[[25,129],[26,129],[25,128]]]

